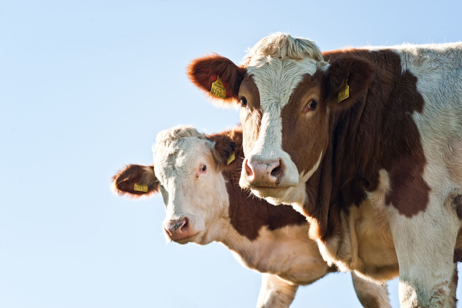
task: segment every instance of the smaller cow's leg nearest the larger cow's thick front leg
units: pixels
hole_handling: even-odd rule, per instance
[[[377,284],[359,277],[351,272],[353,287],[359,302],[365,308],[391,308],[387,284]]]

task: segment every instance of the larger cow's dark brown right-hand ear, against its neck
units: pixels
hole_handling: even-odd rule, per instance
[[[344,55],[330,62],[325,86],[328,104],[333,110],[349,108],[365,97],[374,77],[372,62],[354,55]]]

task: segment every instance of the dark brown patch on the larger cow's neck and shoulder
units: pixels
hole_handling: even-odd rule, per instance
[[[391,49],[352,49],[324,54],[327,60],[353,53],[376,66],[364,97],[332,112],[329,140],[321,166],[307,181],[305,214],[313,222],[310,235],[325,241],[340,233],[340,212],[359,206],[366,191],[379,184],[379,171],[389,176],[385,205],[412,217],[425,211],[430,188],[423,179],[426,158],[414,112],[424,100],[417,78],[402,71],[401,57]]]

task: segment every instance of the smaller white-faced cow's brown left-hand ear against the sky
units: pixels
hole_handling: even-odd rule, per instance
[[[113,188],[119,195],[139,197],[159,191],[159,181],[154,174],[154,166],[128,165],[117,172],[112,180]]]

